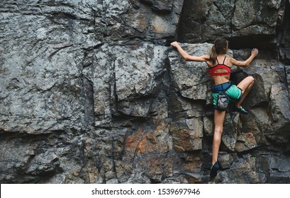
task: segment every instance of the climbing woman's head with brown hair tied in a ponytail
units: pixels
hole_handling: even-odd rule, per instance
[[[218,37],[211,48],[210,61],[212,64],[216,62],[218,54],[226,54],[228,52],[228,40],[224,37]]]

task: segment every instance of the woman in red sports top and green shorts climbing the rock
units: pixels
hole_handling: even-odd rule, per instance
[[[258,50],[253,49],[250,57],[244,62],[237,61],[233,57],[226,55],[228,52],[228,40],[219,37],[215,40],[211,49],[211,53],[200,57],[187,54],[178,42],[172,42],[172,47],[175,47],[179,54],[186,61],[191,62],[206,62],[208,64],[208,74],[211,76],[213,83],[213,105],[214,110],[214,134],[213,134],[213,154],[211,161],[211,177],[216,177],[219,169],[218,165],[218,150],[221,144],[221,134],[223,133],[223,121],[225,119],[225,108],[229,102],[235,102],[233,111],[247,114],[247,111],[241,106],[255,79],[252,76],[247,76],[237,86],[230,82],[230,68],[235,66],[246,67],[257,56]],[[226,101],[221,97],[222,94],[227,95]]]

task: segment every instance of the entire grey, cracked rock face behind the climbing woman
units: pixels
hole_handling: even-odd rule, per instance
[[[288,0],[0,1],[1,183],[289,183]],[[247,17],[244,17],[247,16]],[[206,54],[224,35],[255,86],[218,176]],[[279,49],[277,56],[276,49]]]

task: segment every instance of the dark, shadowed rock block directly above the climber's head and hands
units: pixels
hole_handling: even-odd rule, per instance
[[[223,35],[235,41],[230,44],[233,47],[273,47],[271,43],[276,35],[280,5],[281,0],[185,0],[179,39],[183,42],[208,42]]]

